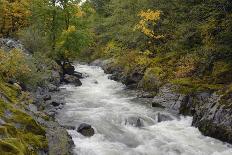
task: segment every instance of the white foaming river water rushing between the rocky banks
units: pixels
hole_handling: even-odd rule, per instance
[[[70,95],[57,118],[62,124],[91,124],[90,138],[69,131],[78,155],[232,155],[231,146],[203,136],[192,118],[149,107],[95,66],[78,65],[88,75],[81,87],[64,86]],[[157,113],[174,120],[157,122]],[[139,118],[143,127],[133,125]],[[134,121],[134,122],[133,122]]]

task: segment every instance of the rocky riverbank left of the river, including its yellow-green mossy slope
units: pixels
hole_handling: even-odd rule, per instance
[[[20,49],[28,57],[20,41],[0,39],[0,48],[6,52]],[[41,64],[43,66],[45,64]],[[0,79],[0,150],[1,153],[69,155],[74,145],[66,127],[55,115],[65,104],[65,90],[61,84],[80,86],[82,74],[70,63],[53,68],[36,88],[15,79]]]

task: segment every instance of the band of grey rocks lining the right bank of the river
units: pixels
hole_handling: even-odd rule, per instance
[[[91,65],[101,66],[111,74],[111,79],[121,81],[129,88],[139,88],[144,73],[134,71],[125,75],[123,69],[112,65],[112,60],[96,60]],[[232,94],[220,92],[193,92],[183,94],[178,86],[160,84],[156,77],[150,78],[150,85],[156,86],[153,92],[142,92],[138,96],[153,98],[153,107],[163,107],[178,114],[193,116],[192,125],[206,136],[232,144]]]

